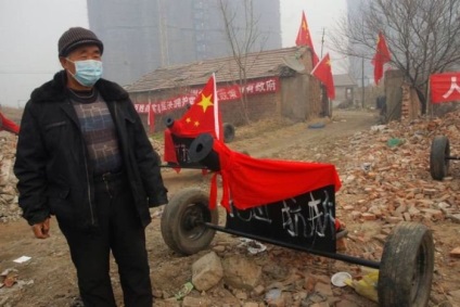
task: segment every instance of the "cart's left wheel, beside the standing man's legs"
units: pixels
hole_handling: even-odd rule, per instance
[[[216,231],[203,222],[218,223],[217,209],[209,210],[208,196],[197,188],[176,194],[165,206],[162,216],[162,235],[175,252],[192,255],[205,250]]]

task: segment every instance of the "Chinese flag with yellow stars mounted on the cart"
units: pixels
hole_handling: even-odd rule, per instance
[[[218,103],[216,78],[213,74],[182,118],[175,120],[173,127],[165,130],[166,162],[177,163],[170,133],[182,138],[196,138],[201,133],[210,133],[213,138],[223,140]]]

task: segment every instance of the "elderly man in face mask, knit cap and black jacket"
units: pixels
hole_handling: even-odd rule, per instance
[[[128,93],[102,79],[102,41],[73,27],[59,40],[63,71],[33,91],[21,123],[14,171],[35,235],[55,216],[85,306],[115,306],[110,253],[125,306],[152,306],[145,227],[167,203],[153,150]]]

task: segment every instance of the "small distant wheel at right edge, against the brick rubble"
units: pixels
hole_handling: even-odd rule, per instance
[[[430,172],[435,180],[443,180],[449,170],[450,146],[449,139],[444,136],[437,136],[433,139],[430,154]]]

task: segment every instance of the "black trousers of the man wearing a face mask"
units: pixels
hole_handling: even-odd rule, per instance
[[[145,231],[125,176],[95,182],[99,227],[85,233],[60,225],[77,269],[86,307],[116,306],[110,278],[110,252],[118,265],[126,307],[153,305]]]

